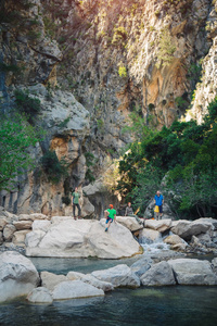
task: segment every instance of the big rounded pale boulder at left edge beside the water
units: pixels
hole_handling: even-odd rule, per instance
[[[27,258],[14,251],[0,254],[0,302],[28,294],[38,283],[38,272]]]

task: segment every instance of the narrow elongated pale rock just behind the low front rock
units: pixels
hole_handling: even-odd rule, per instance
[[[114,289],[114,287],[111,283],[100,280],[90,274],[86,275],[86,274],[77,273],[77,272],[68,272],[67,279],[69,279],[69,280],[80,279],[87,284],[92,285],[93,287],[95,287],[98,289],[102,289],[104,292],[112,291]]]

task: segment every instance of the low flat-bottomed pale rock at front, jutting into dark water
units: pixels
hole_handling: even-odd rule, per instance
[[[98,289],[81,280],[67,280],[60,283],[53,290],[54,300],[89,298],[104,296],[103,290]]]

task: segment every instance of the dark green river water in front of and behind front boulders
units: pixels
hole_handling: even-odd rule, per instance
[[[64,275],[69,271],[91,273],[122,263],[131,265],[137,260],[138,256],[120,261],[31,259],[39,272],[49,271]],[[0,304],[0,325],[216,326],[217,287],[171,286],[116,289],[106,293],[104,298],[54,301],[48,305],[33,304],[25,298],[20,298]]]

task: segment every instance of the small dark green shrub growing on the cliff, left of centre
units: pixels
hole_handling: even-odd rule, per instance
[[[40,160],[41,168],[52,184],[59,184],[64,176],[67,176],[67,166],[62,159],[59,161],[55,151],[47,151]]]

